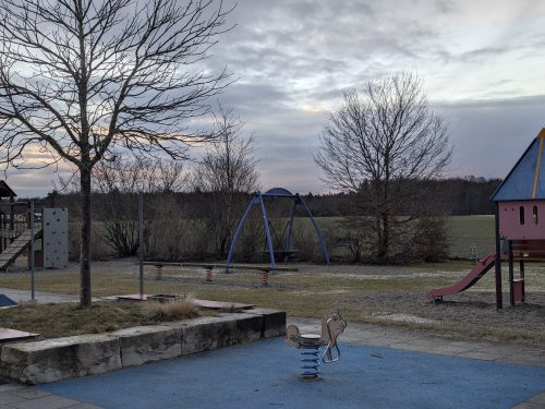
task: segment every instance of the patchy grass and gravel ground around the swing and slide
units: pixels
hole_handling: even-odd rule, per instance
[[[504,309],[495,304],[494,273],[473,288],[431,303],[424,294],[450,286],[472,268],[471,263],[425,264],[409,267],[368,265],[291,264],[296,273],[269,276],[262,286],[259,272],[215,272],[214,282],[205,284],[202,268],[145,268],[145,292],[183,293],[195,298],[255,303],[276,308],[295,316],[319,317],[338,309],[350,322],[380,323],[416,328],[456,339],[487,339],[545,346],[545,266],[528,265],[526,303],[510,306],[507,268],[504,268]],[[28,270],[19,265],[0,275],[0,287],[28,288]],[[78,266],[36,274],[36,289],[61,293],[78,292]],[[94,296],[138,291],[136,260],[93,264]]]

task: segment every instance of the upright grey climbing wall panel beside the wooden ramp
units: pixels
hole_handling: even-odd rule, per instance
[[[44,267],[68,267],[68,209],[44,208]]]

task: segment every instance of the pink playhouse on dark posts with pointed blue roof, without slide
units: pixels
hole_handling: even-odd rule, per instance
[[[496,305],[502,308],[501,263],[509,263],[509,301],[524,302],[524,262],[545,260],[545,129],[491,200],[496,204]],[[501,243],[502,242],[502,243]],[[504,244],[504,245],[501,245]],[[516,277],[516,262],[518,276]]]

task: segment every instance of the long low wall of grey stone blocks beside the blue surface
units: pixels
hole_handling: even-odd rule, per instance
[[[0,372],[25,384],[43,384],[284,334],[284,312],[254,309],[108,334],[7,344]]]

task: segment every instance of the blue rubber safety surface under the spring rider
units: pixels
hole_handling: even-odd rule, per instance
[[[511,408],[545,389],[545,369],[340,345],[322,381],[300,381],[281,339],[39,387],[112,409]]]

